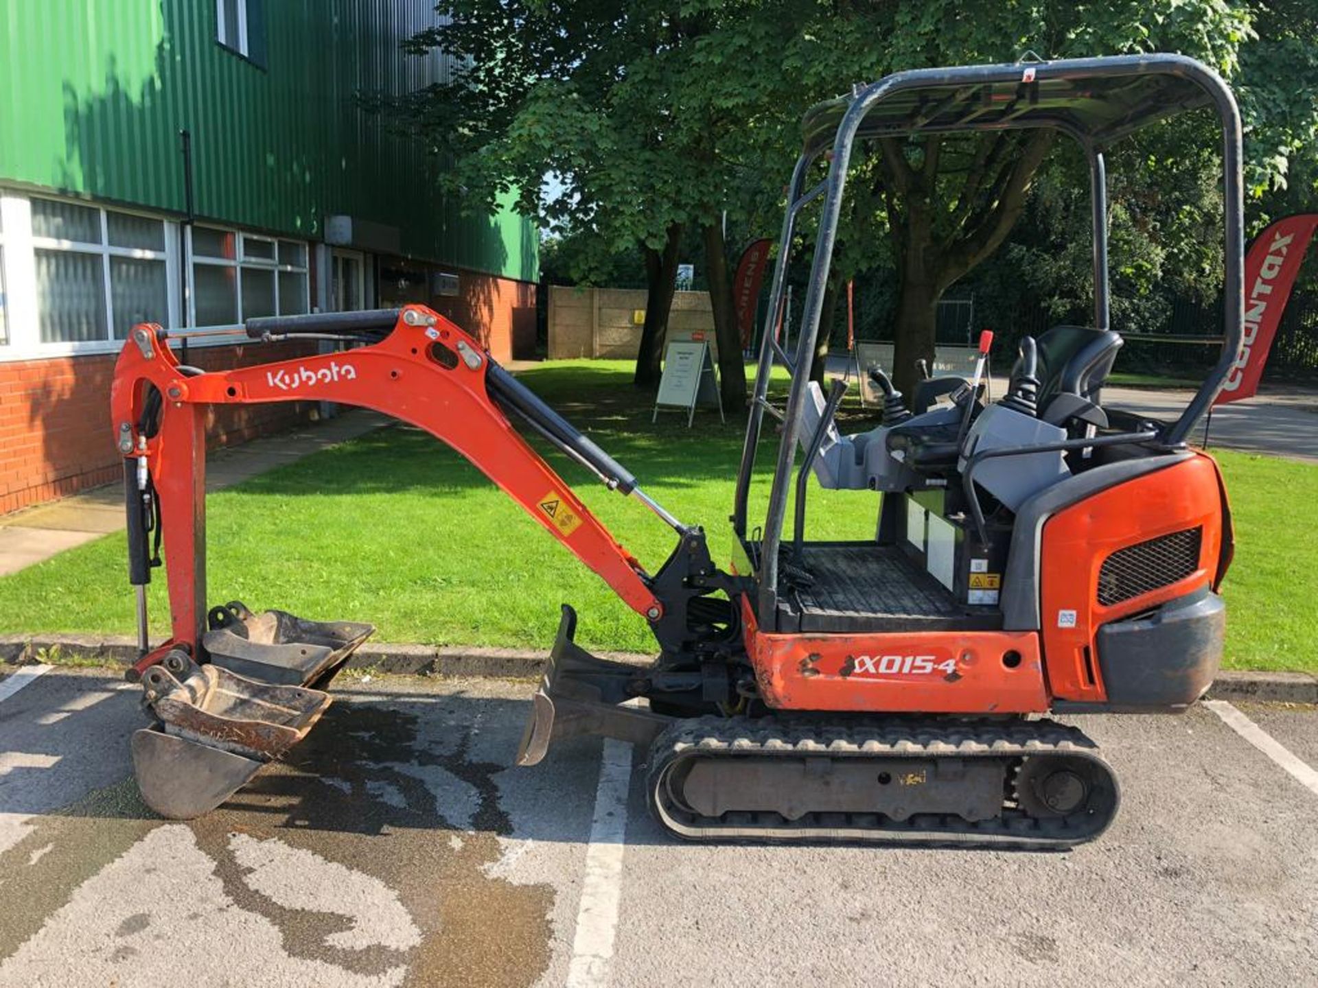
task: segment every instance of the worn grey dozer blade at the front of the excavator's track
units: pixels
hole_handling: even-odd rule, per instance
[[[581,734],[650,746],[672,725],[671,717],[621,706],[631,697],[627,684],[643,671],[590,655],[572,640],[575,634],[576,611],[564,603],[544,678],[531,697],[531,715],[517,750],[518,765],[535,765],[552,742]]]

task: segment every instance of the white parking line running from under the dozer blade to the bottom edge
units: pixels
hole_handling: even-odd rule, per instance
[[[618,929],[630,785],[631,746],[606,738],[600,755],[600,786],[594,793],[594,819],[585,851],[585,880],[581,883],[572,960],[564,981],[567,988],[600,988],[609,983],[613,935]]]

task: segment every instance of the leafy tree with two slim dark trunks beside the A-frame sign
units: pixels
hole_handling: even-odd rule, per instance
[[[763,16],[774,7],[784,5],[442,4],[444,21],[409,47],[439,49],[452,59],[452,79],[391,107],[452,162],[447,180],[473,208],[515,192],[522,212],[542,225],[569,220],[593,231],[605,254],[641,246],[650,290],[639,385],[656,383],[677,252],[684,233],[697,231],[730,410],[745,403],[746,379],[722,217],[735,208],[730,199],[743,179],[726,142],[746,130],[738,104],[759,91],[751,86],[737,99],[724,92],[734,66],[753,80],[750,69],[731,59],[754,57],[763,66],[774,38],[789,37],[789,21]],[[540,194],[548,173],[565,195]]]

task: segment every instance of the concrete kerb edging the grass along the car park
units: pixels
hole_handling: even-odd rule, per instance
[[[601,652],[605,659],[646,665],[651,656]],[[546,652],[474,645],[416,645],[368,642],[352,656],[349,669],[397,676],[448,678],[534,680],[544,671]],[[129,665],[137,645],[119,635],[4,635],[0,663],[72,661],[91,665]],[[1318,677],[1305,672],[1223,671],[1209,690],[1211,700],[1273,703],[1318,703]]]

